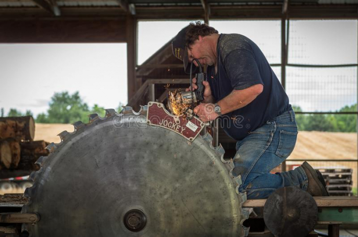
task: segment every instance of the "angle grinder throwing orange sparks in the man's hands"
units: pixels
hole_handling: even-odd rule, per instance
[[[192,117],[194,106],[204,100],[204,89],[205,86],[203,82],[206,81],[206,74],[202,71],[202,65],[200,65],[197,59],[194,59],[199,67],[199,73],[196,73],[196,85],[197,89],[192,91],[185,92],[169,92],[167,94],[168,99],[168,109],[171,113],[175,115],[181,114],[191,114],[187,116],[189,119]],[[192,88],[192,66],[193,62],[190,65],[190,87]]]

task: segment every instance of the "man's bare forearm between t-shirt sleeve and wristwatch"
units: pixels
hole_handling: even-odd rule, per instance
[[[247,106],[262,90],[263,86],[261,84],[243,90],[233,90],[229,95],[217,102],[221,108],[221,114],[227,114]]]

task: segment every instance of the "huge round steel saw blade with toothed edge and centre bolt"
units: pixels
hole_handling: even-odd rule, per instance
[[[237,183],[210,135],[188,142],[108,110],[60,135],[26,191],[32,236],[240,236]]]

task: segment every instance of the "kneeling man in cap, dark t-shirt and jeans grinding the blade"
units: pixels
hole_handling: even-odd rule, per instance
[[[203,121],[219,118],[237,140],[233,175],[242,180],[240,192],[259,199],[294,186],[312,196],[328,196],[322,174],[307,162],[295,170],[270,173],[293,151],[297,125],[284,89],[253,41],[239,34],[218,34],[198,21],[176,35],[172,49],[187,73],[193,59],[208,65],[204,101],[194,113]],[[195,78],[193,82],[195,90]]]

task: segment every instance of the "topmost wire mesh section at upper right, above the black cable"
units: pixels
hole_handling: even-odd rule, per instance
[[[288,63],[356,64],[357,20],[290,20]]]

